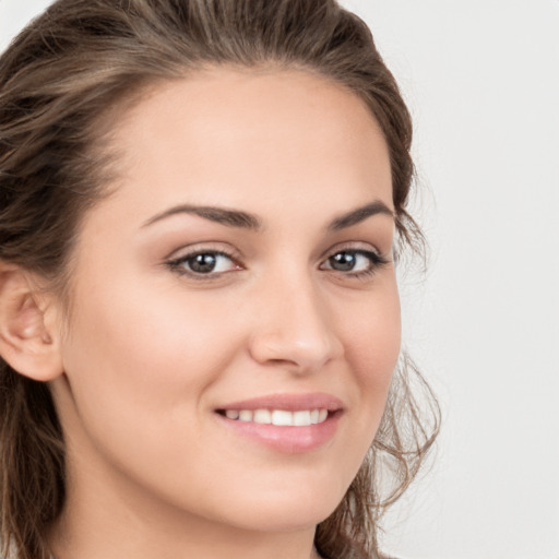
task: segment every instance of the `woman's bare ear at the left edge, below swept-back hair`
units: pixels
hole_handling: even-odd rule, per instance
[[[21,374],[49,381],[63,372],[55,309],[27,272],[0,262],[0,356]],[[47,324],[50,323],[50,328]]]

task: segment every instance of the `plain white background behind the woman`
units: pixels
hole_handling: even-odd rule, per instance
[[[271,0],[272,1],[272,0]],[[48,2],[0,0],[0,48]],[[444,413],[402,559],[559,559],[559,0],[346,0],[416,123],[405,338]]]

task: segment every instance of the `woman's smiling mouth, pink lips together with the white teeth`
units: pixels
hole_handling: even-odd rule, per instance
[[[316,450],[336,432],[342,402],[325,394],[271,395],[215,409],[234,433],[283,453]]]

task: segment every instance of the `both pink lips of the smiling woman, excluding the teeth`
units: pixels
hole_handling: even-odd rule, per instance
[[[343,415],[342,401],[329,394],[271,394],[269,396],[234,402],[216,412],[227,409],[328,409],[325,421],[306,427],[284,427],[263,425],[253,421],[229,419],[217,413],[217,418],[234,433],[286,454],[298,454],[319,449],[333,439],[340,418]]]

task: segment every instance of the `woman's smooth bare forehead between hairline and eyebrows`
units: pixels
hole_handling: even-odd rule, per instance
[[[153,88],[114,124],[117,197],[277,207],[302,192],[346,206],[391,200],[388,147],[365,103],[296,70],[199,72]],[[258,211],[258,207],[254,207]]]

